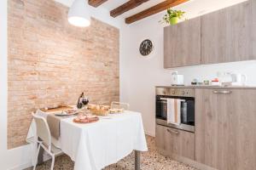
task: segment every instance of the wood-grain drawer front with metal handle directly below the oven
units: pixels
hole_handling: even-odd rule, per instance
[[[195,134],[156,125],[156,146],[166,156],[183,156],[195,160]]]

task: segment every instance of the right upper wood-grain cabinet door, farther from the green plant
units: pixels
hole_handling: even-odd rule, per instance
[[[247,1],[201,16],[202,64],[256,59],[251,5]]]

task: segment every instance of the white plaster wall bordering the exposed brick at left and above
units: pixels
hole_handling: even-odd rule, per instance
[[[0,1],[0,170],[32,166],[30,145],[7,150],[7,2],[8,0]],[[67,3],[66,0],[65,2]],[[104,8],[97,9],[97,12],[96,9],[90,9],[92,16],[97,20],[118,28],[123,24],[123,21],[110,18]]]

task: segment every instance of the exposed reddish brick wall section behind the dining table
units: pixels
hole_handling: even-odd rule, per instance
[[[53,0],[9,0],[8,147],[25,144],[37,108],[119,100],[119,30],[99,20],[70,26]]]

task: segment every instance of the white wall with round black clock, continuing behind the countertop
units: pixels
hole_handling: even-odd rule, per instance
[[[217,71],[239,72],[247,74],[248,85],[256,86],[256,61],[163,69],[163,26],[159,23],[163,15],[164,13],[156,14],[126,27],[121,40],[125,45],[120,47],[123,52],[120,59],[121,100],[130,103],[131,110],[143,113],[145,131],[153,136],[154,86],[170,85],[172,71],[183,74],[186,84],[194,78],[211,80],[217,77]],[[145,38],[154,42],[154,53],[148,59],[143,59],[138,52],[139,43]]]

